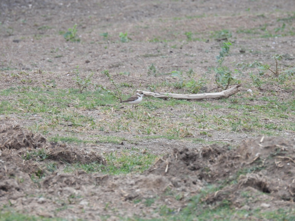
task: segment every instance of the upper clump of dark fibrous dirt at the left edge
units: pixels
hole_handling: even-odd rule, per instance
[[[21,149],[21,148],[43,148],[46,139],[41,134],[34,134],[27,129],[23,129],[19,124],[2,123],[0,125],[0,150]]]

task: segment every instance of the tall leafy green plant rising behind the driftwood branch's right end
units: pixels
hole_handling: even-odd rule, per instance
[[[226,90],[232,84],[239,83],[239,81],[232,76],[230,68],[223,66],[224,58],[229,54],[231,45],[232,44],[230,42],[223,43],[223,47],[221,47],[221,51],[216,57],[218,65],[214,68],[214,72],[216,73],[215,82],[217,84],[217,88],[222,88],[223,90]]]

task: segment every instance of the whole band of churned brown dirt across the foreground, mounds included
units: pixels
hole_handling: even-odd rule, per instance
[[[160,214],[155,212],[158,205],[179,211],[202,187],[230,183],[237,179],[239,171],[248,173],[240,175],[237,183],[203,199],[208,207],[214,208],[216,203],[227,200],[237,210],[294,208],[294,138],[262,137],[244,142],[237,149],[217,144],[191,150],[175,148],[142,174],[54,172],[42,182],[34,183],[30,175],[42,173],[42,164],[48,161],[104,164],[104,159],[95,152],[48,144],[44,137],[19,125],[2,124],[0,129],[0,197],[1,202],[9,202],[15,211],[86,220],[97,220],[104,215],[159,218]],[[46,149],[49,157],[45,161],[21,158],[27,150],[38,147]],[[253,168],[261,170],[255,172]],[[153,200],[151,206],[146,205],[147,199]]]

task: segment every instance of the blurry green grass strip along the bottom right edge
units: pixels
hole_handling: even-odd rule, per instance
[[[261,212],[260,209],[252,210],[239,210],[232,207],[232,203],[224,199],[216,202],[213,207],[210,207],[204,199],[208,194],[220,190],[220,187],[207,186],[200,190],[199,194],[191,197],[190,202],[180,212],[169,208],[167,205],[162,205],[156,209],[161,217],[149,220],[294,220],[295,215],[292,208],[278,209],[268,212]],[[242,193],[242,197],[249,200],[248,193]],[[153,204],[153,198],[146,199],[144,204],[150,206]],[[126,219],[131,220],[131,219]],[[146,220],[140,217],[133,217],[132,220]]]

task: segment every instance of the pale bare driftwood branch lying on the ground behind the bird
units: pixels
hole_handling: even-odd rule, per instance
[[[204,94],[172,94],[172,93],[163,93],[163,92],[151,92],[151,91],[142,91],[146,96],[153,96],[155,98],[176,98],[176,99],[187,99],[187,100],[199,100],[205,98],[228,98],[231,95],[240,91],[241,85],[235,85],[234,87],[223,90],[217,93],[204,93]],[[140,90],[137,90],[137,92]]]

